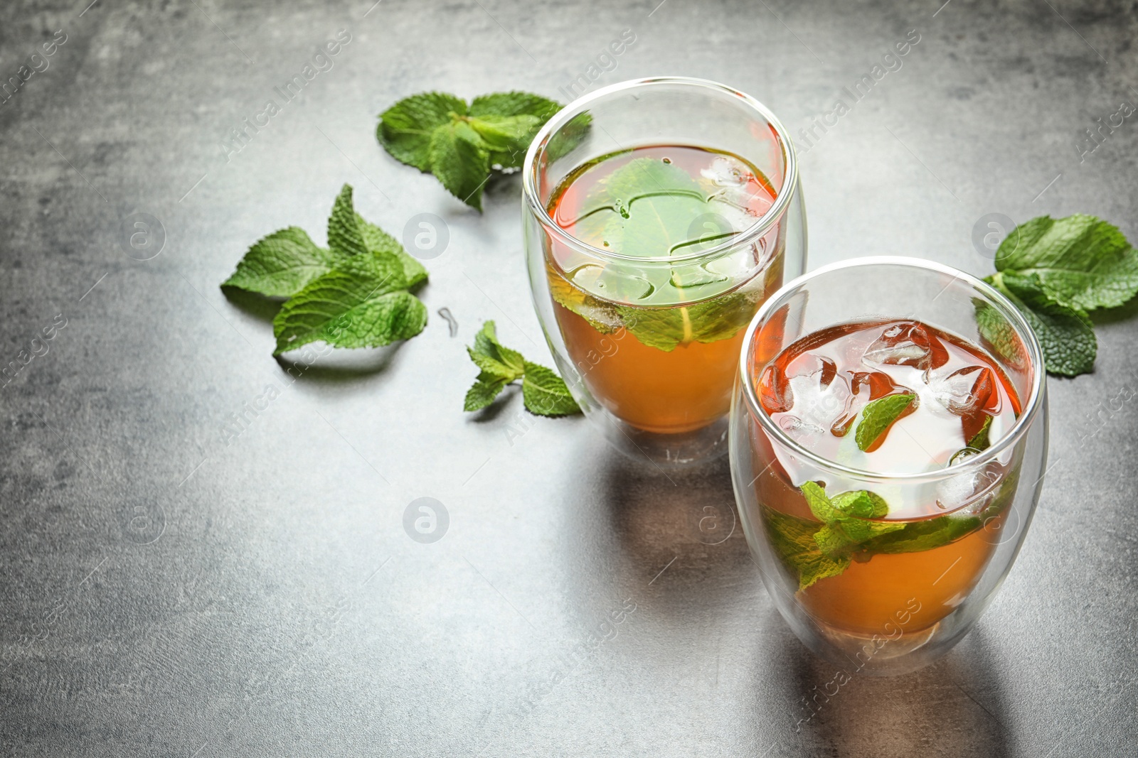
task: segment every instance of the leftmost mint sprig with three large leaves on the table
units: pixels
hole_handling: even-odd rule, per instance
[[[328,248],[304,230],[258,240],[222,286],[288,298],[273,318],[273,355],[323,341],[373,348],[409,340],[427,325],[427,307],[412,290],[427,269],[398,240],[364,220],[345,184],[328,219]]]

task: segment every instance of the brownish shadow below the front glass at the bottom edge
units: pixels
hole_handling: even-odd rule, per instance
[[[772,756],[1011,755],[998,661],[980,630],[937,664],[891,677],[842,672],[785,625],[774,635],[775,649],[756,666],[753,702],[781,745]],[[839,685],[840,673],[849,680]]]

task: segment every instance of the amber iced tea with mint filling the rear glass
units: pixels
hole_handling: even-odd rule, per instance
[[[780,230],[715,259],[671,259],[729,241],[774,197],[740,158],[686,145],[607,156],[554,193],[558,225],[629,257],[580,257],[553,242],[547,261],[569,356],[618,418],[670,434],[727,413],[743,327],[782,284]]]

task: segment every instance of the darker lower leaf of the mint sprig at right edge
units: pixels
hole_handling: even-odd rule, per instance
[[[1086,313],[1057,302],[1038,274],[998,272],[984,281],[1007,295],[1031,325],[1048,373],[1078,376],[1094,369],[1098,342]]]

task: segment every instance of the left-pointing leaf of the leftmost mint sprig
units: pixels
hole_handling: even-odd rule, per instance
[[[289,226],[257,240],[222,286],[288,298],[344,259],[318,247],[303,228]]]

